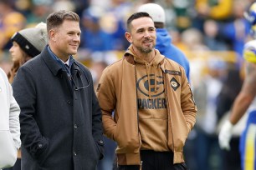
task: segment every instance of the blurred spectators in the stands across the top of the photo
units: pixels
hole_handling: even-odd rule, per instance
[[[125,50],[129,46],[124,37],[125,21],[146,2],[165,7],[166,28],[182,51],[230,50],[241,56],[249,32],[243,13],[253,0],[1,0],[1,58],[14,32],[45,22],[49,13],[60,9],[79,14],[82,60],[94,52]]]

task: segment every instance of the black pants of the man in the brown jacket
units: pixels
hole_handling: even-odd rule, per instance
[[[172,152],[141,151],[142,170],[187,170],[185,163],[173,164]],[[139,170],[139,165],[119,165],[118,170]]]

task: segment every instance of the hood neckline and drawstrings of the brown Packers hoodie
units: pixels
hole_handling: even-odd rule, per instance
[[[149,99],[151,99],[152,96],[152,92],[151,92],[151,87],[153,86],[154,88],[154,92],[157,91],[156,88],[156,72],[161,72],[161,63],[164,60],[164,56],[161,55],[161,53],[156,50],[154,48],[154,52],[155,52],[155,56],[153,57],[153,60],[151,62],[147,62],[146,60],[144,60],[143,58],[141,58],[140,56],[136,55],[136,52],[134,52],[132,45],[130,47],[128,47],[128,49],[125,52],[125,56],[127,55],[131,55],[134,58],[134,62],[135,65],[136,64],[143,64],[146,66],[146,74],[147,74],[147,81],[148,81],[148,86],[149,86],[149,90],[148,90],[148,95],[149,95]],[[154,84],[151,85],[151,80],[150,80],[150,76],[153,75],[154,78]]]

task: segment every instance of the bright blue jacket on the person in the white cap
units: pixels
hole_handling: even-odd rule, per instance
[[[190,82],[190,68],[187,57],[179,48],[172,44],[172,38],[165,28],[156,28],[156,49],[158,49],[162,55],[172,59],[184,67],[187,79]]]

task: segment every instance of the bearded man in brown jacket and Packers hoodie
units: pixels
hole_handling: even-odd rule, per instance
[[[127,28],[131,46],[105,68],[96,90],[118,169],[186,169],[182,151],[197,107],[184,68],[154,48],[148,13],[131,15]]]

